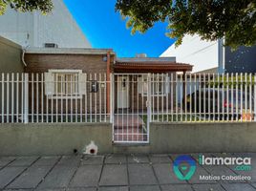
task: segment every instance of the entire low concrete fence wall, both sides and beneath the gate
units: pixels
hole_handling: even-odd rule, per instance
[[[256,152],[256,123],[151,123],[149,144],[113,144],[112,124],[1,124],[0,156]]]

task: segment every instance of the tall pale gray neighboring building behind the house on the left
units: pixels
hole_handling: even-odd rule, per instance
[[[18,12],[0,16],[0,35],[23,47],[91,48],[63,0],[53,0],[53,12]]]

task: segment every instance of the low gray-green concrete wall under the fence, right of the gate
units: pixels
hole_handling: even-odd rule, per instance
[[[153,123],[154,153],[256,152],[256,123]]]

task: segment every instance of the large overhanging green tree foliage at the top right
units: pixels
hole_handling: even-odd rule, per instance
[[[224,37],[233,49],[256,43],[255,0],[117,0],[116,11],[128,17],[132,33],[168,21],[167,35],[177,38],[177,46],[185,34],[196,33],[211,41]]]

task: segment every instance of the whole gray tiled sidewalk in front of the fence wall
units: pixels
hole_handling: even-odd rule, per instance
[[[224,154],[205,154],[222,156]],[[231,155],[231,154],[228,154]],[[178,180],[173,160],[179,155],[106,155],[0,158],[0,190],[70,191],[256,191],[256,154],[252,170],[199,166],[191,180]],[[234,156],[234,155],[232,155]],[[196,159],[197,155],[192,157]],[[200,175],[246,175],[249,181],[199,180]]]

